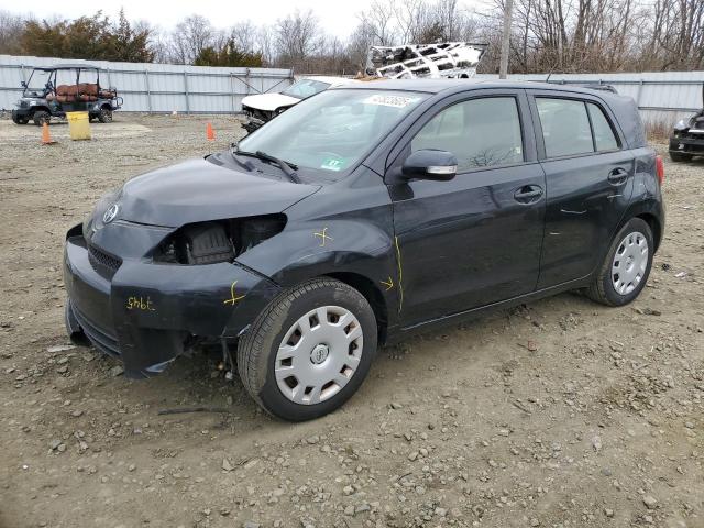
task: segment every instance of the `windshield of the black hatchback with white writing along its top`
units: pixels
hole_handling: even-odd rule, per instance
[[[265,152],[327,177],[352,167],[426,94],[396,90],[329,90],[286,110],[238,145]]]

